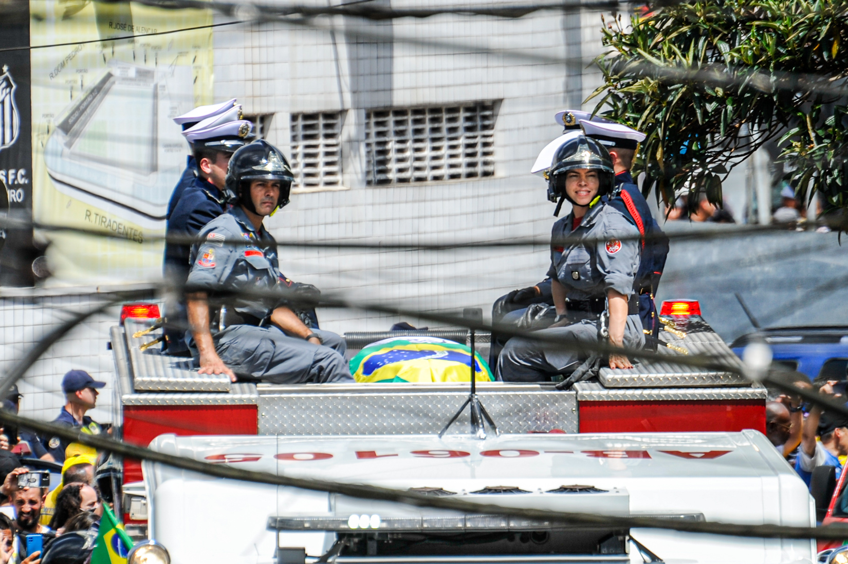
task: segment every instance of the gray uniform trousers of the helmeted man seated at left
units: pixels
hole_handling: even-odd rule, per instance
[[[215,350],[233,372],[245,380],[275,384],[353,382],[343,338],[313,330],[322,345],[288,337],[277,327],[232,325],[213,336]]]

